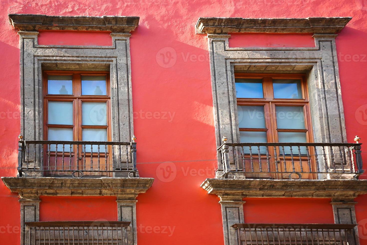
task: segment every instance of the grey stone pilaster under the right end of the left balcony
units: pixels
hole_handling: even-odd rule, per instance
[[[137,245],[136,195],[117,196],[117,216],[119,221],[130,221],[127,229],[127,244]]]

